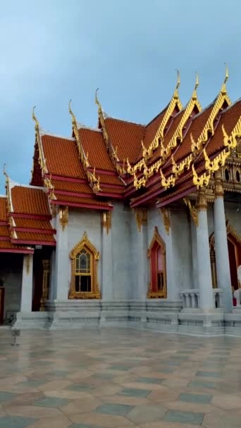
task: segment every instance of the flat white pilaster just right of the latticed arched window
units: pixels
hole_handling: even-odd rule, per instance
[[[101,213],[101,299],[113,300],[112,213]]]

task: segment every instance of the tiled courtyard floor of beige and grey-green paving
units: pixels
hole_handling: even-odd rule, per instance
[[[0,428],[241,427],[241,340],[0,329]]]

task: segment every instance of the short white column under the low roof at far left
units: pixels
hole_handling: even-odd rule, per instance
[[[21,290],[21,312],[32,312],[32,267],[33,255],[25,254],[23,256],[23,275]]]

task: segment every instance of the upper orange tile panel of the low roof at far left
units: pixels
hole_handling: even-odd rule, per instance
[[[50,215],[47,194],[43,189],[14,186],[11,199],[16,214]]]

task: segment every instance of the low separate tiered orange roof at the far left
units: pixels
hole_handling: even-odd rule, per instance
[[[0,251],[33,253],[35,245],[55,246],[46,190],[20,186],[9,177],[6,190],[0,197]]]

